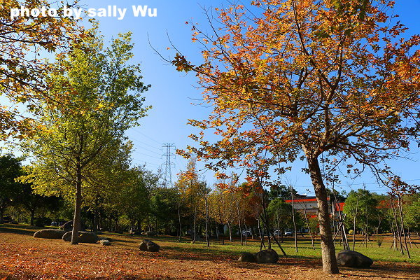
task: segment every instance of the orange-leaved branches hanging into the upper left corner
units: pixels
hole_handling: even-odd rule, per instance
[[[25,6],[33,8],[57,8],[61,15],[62,6],[55,6],[47,0],[3,0],[0,3],[0,96],[5,96],[10,106],[0,107],[0,137],[21,136],[29,133],[32,120],[22,116],[15,106],[32,106],[36,99],[57,101],[59,97],[47,92],[44,74],[55,71],[41,54],[66,52],[74,38],[82,32],[72,18],[57,17],[15,17],[10,18],[10,9]],[[78,1],[69,1],[75,6]],[[6,105],[6,104],[4,104]]]

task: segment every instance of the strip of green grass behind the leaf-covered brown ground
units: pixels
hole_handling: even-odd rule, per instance
[[[49,228],[49,227],[48,227]],[[20,235],[33,235],[36,230],[41,228],[31,227],[30,225],[12,225],[12,224],[3,224],[0,225],[1,232],[10,232],[17,233]],[[174,251],[179,251],[180,253],[204,253],[204,254],[214,254],[214,255],[239,255],[240,253],[249,252],[255,253],[260,250],[260,241],[251,240],[247,241],[247,244],[241,246],[239,240],[230,242],[225,240],[225,245],[221,244],[221,240],[211,240],[210,246],[207,247],[205,241],[196,241],[195,244],[191,244],[190,240],[187,237],[183,237],[182,241],[178,241],[178,237],[168,237],[168,236],[158,236],[158,237],[146,237],[146,236],[134,236],[131,235],[121,235],[113,232],[103,232],[102,237],[111,237],[111,239],[116,239],[119,242],[129,242],[129,243],[139,243],[141,239],[152,239],[153,241],[158,242],[161,246],[165,248],[170,248]],[[359,237],[360,238],[360,237]],[[420,263],[420,240],[416,237],[412,237],[412,241],[415,242],[416,246],[413,244],[412,247],[409,245],[409,251],[411,253],[411,259],[407,257],[407,253],[402,255],[400,251],[391,250],[392,239],[390,236],[385,236],[381,246],[377,245],[377,237],[371,237],[371,244],[366,246],[360,246],[360,239],[356,241],[355,251],[363,253],[373,260],[381,260],[386,262],[416,262]],[[321,258],[321,246],[319,241],[315,242],[315,249],[311,247],[311,240],[308,237],[298,237],[297,239],[298,252],[295,252],[295,242],[293,237],[288,237],[284,239],[281,246],[287,255],[292,258]],[[351,237],[349,237],[349,243],[352,248]],[[266,243],[267,245],[267,240]],[[278,246],[272,242],[272,248],[276,250],[279,255],[281,251]],[[336,242],[336,251],[342,250],[342,244]]]

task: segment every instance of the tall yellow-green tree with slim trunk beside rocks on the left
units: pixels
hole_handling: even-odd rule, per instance
[[[138,125],[148,109],[139,65],[129,64],[131,34],[119,34],[109,48],[104,48],[97,25],[90,34],[74,42],[68,55],[57,57],[62,71],[46,80],[62,102],[37,107],[42,127],[25,146],[35,160],[24,181],[38,193],[60,193],[75,201],[71,244],[78,244],[86,178],[101,169],[99,159],[124,149],[125,131]]]

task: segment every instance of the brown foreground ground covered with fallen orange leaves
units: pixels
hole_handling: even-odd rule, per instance
[[[0,232],[0,279],[420,279],[420,265],[375,262],[371,269],[323,274],[321,260],[281,258],[276,264],[237,262],[237,255],[190,253],[162,246],[140,252],[137,239],[115,237],[113,246],[33,239]]]

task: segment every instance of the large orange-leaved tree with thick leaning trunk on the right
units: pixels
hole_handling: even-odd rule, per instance
[[[190,120],[202,130],[192,136],[200,147],[184,155],[208,160],[219,177],[253,159],[266,177],[267,165],[281,174],[306,160],[323,271],[338,273],[320,159],[327,173],[341,165],[356,175],[369,167],[380,181],[391,176],[386,160],[419,135],[420,36],[402,37],[393,1],[251,4],[208,11],[213,33],[193,25],[202,64],[180,52],[172,60],[197,73],[203,103],[213,108],[207,120]],[[204,139],[208,130],[216,141]]]

